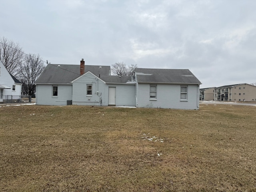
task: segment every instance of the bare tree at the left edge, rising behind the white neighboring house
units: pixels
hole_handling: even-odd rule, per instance
[[[23,57],[22,47],[18,43],[5,37],[0,38],[0,59],[7,71],[13,76],[17,76],[20,72]]]

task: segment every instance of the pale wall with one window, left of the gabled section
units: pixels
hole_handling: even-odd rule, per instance
[[[52,86],[58,86],[58,96],[52,96]],[[36,85],[37,105],[66,105],[67,100],[72,100],[72,85]]]

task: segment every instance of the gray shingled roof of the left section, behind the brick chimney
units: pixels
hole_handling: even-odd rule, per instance
[[[96,76],[110,74],[110,66],[85,65],[84,72],[90,71]],[[48,64],[36,80],[36,84],[70,84],[80,76],[80,65]]]

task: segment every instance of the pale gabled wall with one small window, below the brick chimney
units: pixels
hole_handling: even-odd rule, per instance
[[[88,96],[86,93],[87,84],[92,85],[92,95]],[[87,73],[73,82],[73,105],[94,105],[107,106],[108,100],[105,100],[106,86],[99,78]],[[98,91],[98,94],[97,94]]]

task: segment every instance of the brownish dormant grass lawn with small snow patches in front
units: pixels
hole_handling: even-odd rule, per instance
[[[0,108],[0,191],[256,191],[256,107]]]

